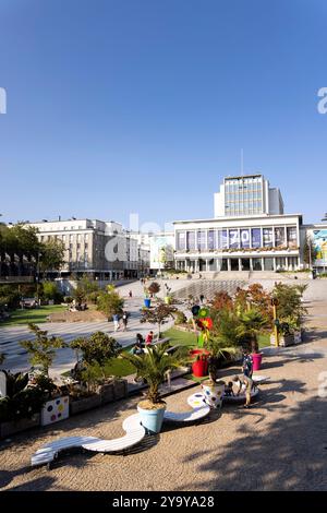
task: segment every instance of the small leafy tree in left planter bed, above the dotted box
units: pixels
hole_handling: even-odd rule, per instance
[[[27,350],[29,362],[33,366],[40,366],[41,372],[49,375],[49,368],[56,356],[56,349],[68,347],[68,345],[58,336],[48,336],[48,332],[40,330],[36,324],[28,323],[28,327],[34,333],[34,341],[23,341],[21,346]]]

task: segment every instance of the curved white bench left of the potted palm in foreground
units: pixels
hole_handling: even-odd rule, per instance
[[[113,440],[101,440],[96,437],[66,437],[47,443],[31,458],[31,465],[50,465],[58,456],[60,451],[71,448],[82,448],[95,452],[117,452],[132,448],[145,437],[145,429],[140,422],[138,414],[131,415],[123,422],[123,429],[126,431],[124,437]]]

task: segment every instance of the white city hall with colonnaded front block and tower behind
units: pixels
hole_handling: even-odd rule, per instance
[[[174,263],[189,272],[298,271],[310,225],[284,214],[279,189],[263,175],[227,177],[209,219],[177,220]]]

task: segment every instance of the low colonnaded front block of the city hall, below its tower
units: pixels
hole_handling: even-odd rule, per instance
[[[175,266],[190,272],[295,271],[301,214],[174,222]]]

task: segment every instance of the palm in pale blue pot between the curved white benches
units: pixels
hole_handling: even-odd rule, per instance
[[[167,372],[180,367],[186,360],[186,348],[168,354],[168,343],[160,346],[149,346],[143,355],[123,354],[136,369],[137,375],[148,384],[146,398],[137,405],[142,425],[150,433],[159,433],[161,430],[166,403],[160,397],[159,387],[166,380]]]

